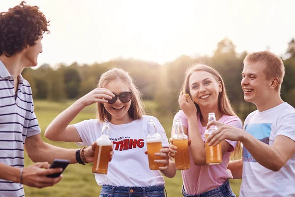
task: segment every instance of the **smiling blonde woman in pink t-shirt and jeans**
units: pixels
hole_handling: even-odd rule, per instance
[[[173,126],[175,120],[180,119],[184,133],[191,140],[189,149],[191,167],[181,171],[183,196],[236,197],[228,181],[233,176],[231,171],[227,169],[227,165],[230,155],[238,152],[240,143],[223,140],[221,142],[222,164],[206,164],[204,132],[208,122],[208,113],[214,112],[216,120],[221,123],[242,129],[242,123],[227,97],[220,74],[206,65],[189,67],[178,102],[182,110],[175,115]],[[172,142],[169,148],[170,155],[174,157],[177,149],[173,145],[173,140],[170,139],[170,141]]]

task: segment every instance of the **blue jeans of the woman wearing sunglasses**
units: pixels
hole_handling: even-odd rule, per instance
[[[164,190],[164,186],[116,187],[104,185],[99,197],[165,197]]]

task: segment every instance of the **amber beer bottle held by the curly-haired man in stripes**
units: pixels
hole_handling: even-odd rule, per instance
[[[109,139],[110,124],[104,123],[100,137],[96,140],[97,146],[94,152],[94,162],[92,172],[107,174],[112,141]]]

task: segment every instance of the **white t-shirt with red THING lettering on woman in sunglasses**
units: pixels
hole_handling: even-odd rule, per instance
[[[140,120],[122,125],[110,123],[110,140],[114,143],[114,155],[106,175],[95,173],[98,185],[148,187],[165,184],[159,170],[149,169],[148,155],[145,154],[150,118],[154,119],[157,132],[162,137],[162,146],[169,146],[164,128],[153,116],[143,116]],[[97,119],[90,119],[74,126],[83,141],[76,144],[89,146],[100,137],[103,124]]]

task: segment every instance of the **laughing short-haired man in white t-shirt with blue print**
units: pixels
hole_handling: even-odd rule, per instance
[[[285,75],[282,60],[263,51],[244,59],[241,86],[244,99],[257,106],[245,122],[244,130],[219,122],[209,144],[229,139],[244,145],[241,160],[228,168],[234,178],[242,178],[240,197],[295,196],[295,109],[280,97]]]

